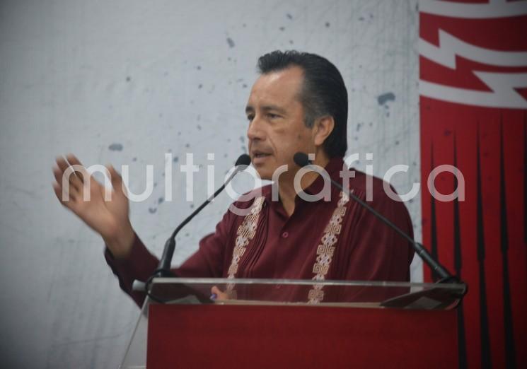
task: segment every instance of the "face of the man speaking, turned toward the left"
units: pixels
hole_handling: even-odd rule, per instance
[[[264,180],[270,180],[274,170],[284,164],[289,172],[296,171],[296,152],[315,152],[313,129],[304,124],[299,100],[302,82],[303,71],[294,66],[260,76],[250,91],[245,108],[249,153]]]

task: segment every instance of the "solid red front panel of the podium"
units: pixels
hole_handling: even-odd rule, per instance
[[[456,368],[455,310],[152,305],[148,369]]]

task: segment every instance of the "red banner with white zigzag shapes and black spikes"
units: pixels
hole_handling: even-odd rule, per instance
[[[468,283],[460,368],[527,365],[527,1],[420,1],[423,240]],[[432,279],[425,269],[425,281]]]

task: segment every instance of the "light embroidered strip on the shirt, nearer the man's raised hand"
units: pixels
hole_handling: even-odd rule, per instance
[[[236,272],[238,271],[238,263],[241,257],[245,253],[245,247],[249,245],[250,240],[253,240],[256,234],[256,228],[258,226],[258,218],[260,218],[260,211],[264,204],[265,197],[257,197],[253,203],[250,213],[248,213],[241,225],[238,226],[236,231],[236,241],[234,243],[233,258],[231,260],[231,266],[228,267],[227,278],[234,279]],[[234,291],[234,283],[227,284],[227,295],[229,298],[236,299],[236,291]]]

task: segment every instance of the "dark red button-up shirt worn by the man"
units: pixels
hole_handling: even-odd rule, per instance
[[[342,183],[343,165],[341,158],[333,158],[325,170],[332,179]],[[382,180],[373,177],[372,182],[373,200],[368,204],[412,236],[412,221],[405,205],[388,197]],[[318,176],[304,192],[318,194],[323,185],[323,177]],[[349,179],[349,189],[365,201],[366,175],[355,171],[354,178]],[[288,217],[282,203],[272,201],[271,185],[262,187],[265,199],[257,228],[238,262],[236,278],[313,279],[318,273],[325,280],[409,281],[412,245],[353,199],[344,204],[340,233],[328,236],[337,237],[332,244],[329,269],[324,274],[322,269],[315,268],[317,252],[320,254],[320,246],[324,244],[321,238],[328,232],[328,223],[335,216],[341,198],[336,187],[332,186],[330,191],[330,201],[310,202],[297,195],[294,213]],[[253,206],[253,201],[236,201],[234,205],[248,208]],[[238,228],[244,218],[227,211],[216,225],[216,232],[205,236],[197,252],[173,272],[183,277],[227,277]],[[144,294],[132,291],[132,282],[134,279],[146,281],[158,266],[158,259],[146,250],[137,235],[127,258],[114,259],[108,249],[105,257],[121,288],[141,305]]]

